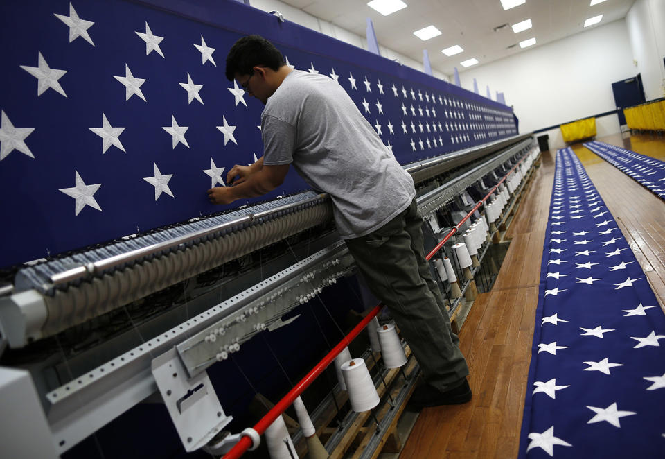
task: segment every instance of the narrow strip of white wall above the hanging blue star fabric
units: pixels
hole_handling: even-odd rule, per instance
[[[251,6],[254,6],[254,8],[258,8],[259,10],[266,12],[279,11],[284,16],[284,19],[287,19],[287,21],[292,21],[301,26],[311,28],[314,31],[321,32],[333,38],[337,38],[337,40],[341,40],[342,42],[353,44],[353,46],[357,46],[358,48],[367,49],[366,37],[356,35],[351,31],[347,31],[345,28],[335,26],[335,24],[332,24],[331,22],[324,21],[323,19],[320,19],[316,16],[312,16],[308,12],[294,8],[293,6],[287,5],[282,1],[250,0],[249,3]],[[260,32],[257,33],[260,34]],[[384,58],[390,60],[397,59],[407,67],[411,67],[412,69],[416,69],[418,71],[423,71],[423,62],[418,62],[411,58],[407,58],[407,56],[402,55],[397,51],[393,51],[392,49],[388,49],[385,46],[381,46],[381,44],[379,44],[379,52]],[[432,69],[432,73],[436,78],[444,81],[450,81],[445,74],[439,71]]]

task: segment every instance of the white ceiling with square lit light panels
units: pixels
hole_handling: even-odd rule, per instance
[[[369,8],[369,0],[282,1],[363,37],[369,17],[380,45],[418,62],[427,49],[432,68],[452,75],[454,67],[464,70],[459,64],[463,60],[477,58],[477,65],[486,64],[622,19],[635,0],[606,0],[594,6],[589,6],[590,0],[526,0],[507,11],[499,0],[403,0],[408,7],[388,16]],[[585,29],[584,21],[596,15],[603,15],[600,24]],[[531,19],[533,28],[513,33],[511,25],[524,19]],[[508,25],[495,30],[503,24]],[[442,34],[427,41],[413,34],[429,25]],[[518,43],[531,37],[537,44],[521,49]],[[441,53],[455,44],[464,52],[451,57]]]

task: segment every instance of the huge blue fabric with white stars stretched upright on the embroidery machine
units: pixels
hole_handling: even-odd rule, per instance
[[[342,85],[402,164],[517,133],[505,105],[369,68],[374,55],[236,1],[2,1],[0,268],[254,202],[213,207],[206,190],[262,155],[263,106],[224,65],[239,37],[275,28],[288,63]],[[258,199],[306,188],[290,173]]]

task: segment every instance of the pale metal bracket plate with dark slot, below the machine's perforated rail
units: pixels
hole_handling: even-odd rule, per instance
[[[152,376],[187,452],[203,447],[233,420],[224,415],[208,373],[187,379],[175,348],[152,361]]]

